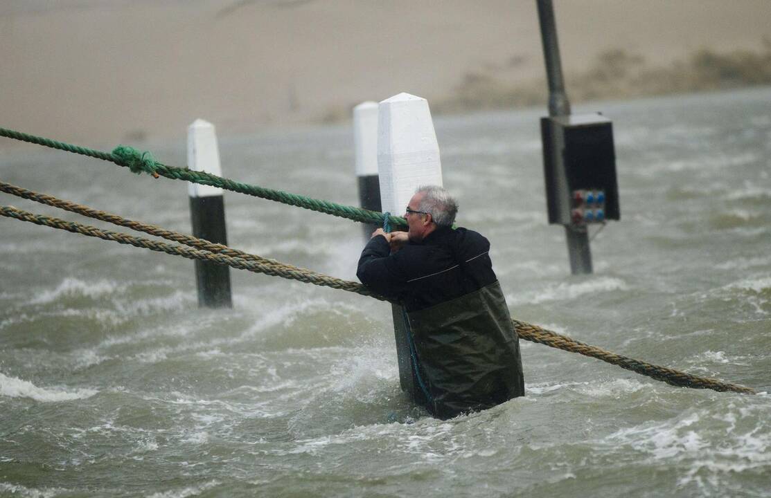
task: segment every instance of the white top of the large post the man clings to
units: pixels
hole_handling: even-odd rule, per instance
[[[383,211],[401,216],[420,185],[442,185],[442,164],[429,103],[400,93],[380,102],[378,172]]]

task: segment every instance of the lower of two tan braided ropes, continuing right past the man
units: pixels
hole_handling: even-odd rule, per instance
[[[5,190],[5,187],[4,191],[8,192],[8,190]],[[32,199],[32,197],[28,198]],[[32,222],[37,225],[51,226],[52,228],[67,230],[74,233],[81,233],[82,235],[98,237],[99,239],[112,240],[121,244],[130,244],[132,246],[143,247],[145,249],[150,249],[157,252],[166,252],[167,254],[182,256],[183,258],[187,259],[201,259],[221,265],[231,266],[232,268],[236,269],[246,269],[251,272],[265,273],[266,275],[271,276],[281,276],[285,279],[294,279],[301,282],[313,283],[318,286],[327,286],[332,287],[333,289],[342,289],[347,290],[348,292],[356,292],[362,296],[370,296],[382,301],[389,300],[385,299],[383,296],[378,296],[372,292],[369,292],[368,289],[359,283],[336,279],[331,276],[325,276],[321,273],[309,272],[308,270],[298,269],[294,266],[283,265],[282,263],[274,262],[273,260],[268,260],[270,261],[269,263],[262,262],[260,256],[255,256],[258,258],[256,260],[249,260],[241,257],[227,256],[223,252],[214,253],[207,250],[175,246],[163,242],[143,239],[141,237],[130,236],[122,232],[101,230],[95,226],[82,225],[77,222],[67,222],[65,220],[51,218],[49,216],[35,215],[31,212],[16,209],[13,206],[0,206],[0,216],[7,216],[26,222]],[[105,220],[109,221],[108,219]],[[130,220],[126,221],[130,222],[130,224],[126,226],[137,226],[137,222],[131,222]],[[195,238],[192,237],[191,239]],[[200,244],[201,246],[205,246],[206,244],[211,244],[211,242],[201,241]],[[235,251],[235,249],[232,250]],[[520,320],[513,319],[512,324],[522,339],[526,339],[534,343],[545,344],[546,346],[557,349],[563,349],[564,351],[581,353],[584,356],[591,356],[593,358],[601,359],[606,363],[621,366],[621,368],[631,370],[641,375],[649,376],[653,379],[661,380],[665,383],[672,384],[673,386],[685,386],[697,389],[714,389],[715,391],[734,391],[736,393],[756,393],[755,389],[751,389],[749,387],[739,386],[732,383],[724,383],[719,379],[693,376],[689,373],[679,372],[675,369],[656,366],[652,365],[651,363],[641,362],[637,359],[631,359],[626,356],[617,355],[596,346],[590,346],[588,344],[571,339],[570,337],[551,332],[550,330],[542,329],[539,326],[521,322]]]

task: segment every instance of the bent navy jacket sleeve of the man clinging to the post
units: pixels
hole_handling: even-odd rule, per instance
[[[372,237],[359,257],[356,276],[372,292],[389,299],[402,299],[407,279],[390,254],[385,237]]]

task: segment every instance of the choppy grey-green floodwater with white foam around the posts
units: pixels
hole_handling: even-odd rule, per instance
[[[436,120],[460,224],[490,238],[512,315],[768,390],[771,89],[584,109],[614,120],[622,221],[583,277],[546,223],[541,112]],[[351,135],[221,137],[224,171],[354,203]],[[151,148],[183,164],[183,130]],[[180,182],[32,145],[0,154],[0,179],[189,232]],[[354,223],[226,204],[233,246],[355,278]],[[200,310],[187,260],[10,219],[0,234],[2,496],[771,495],[767,395],[523,342],[526,397],[442,422],[399,391],[381,302],[234,272],[235,308]]]

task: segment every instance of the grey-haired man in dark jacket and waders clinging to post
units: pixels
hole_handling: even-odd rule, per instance
[[[404,216],[409,231],[375,230],[356,272],[404,307],[418,401],[442,419],[524,396],[519,340],[490,242],[453,229],[457,211],[442,187],[420,187]]]

